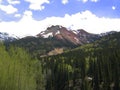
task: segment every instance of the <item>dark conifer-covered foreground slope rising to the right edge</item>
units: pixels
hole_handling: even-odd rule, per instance
[[[61,55],[44,57],[46,90],[119,90],[120,33]]]

